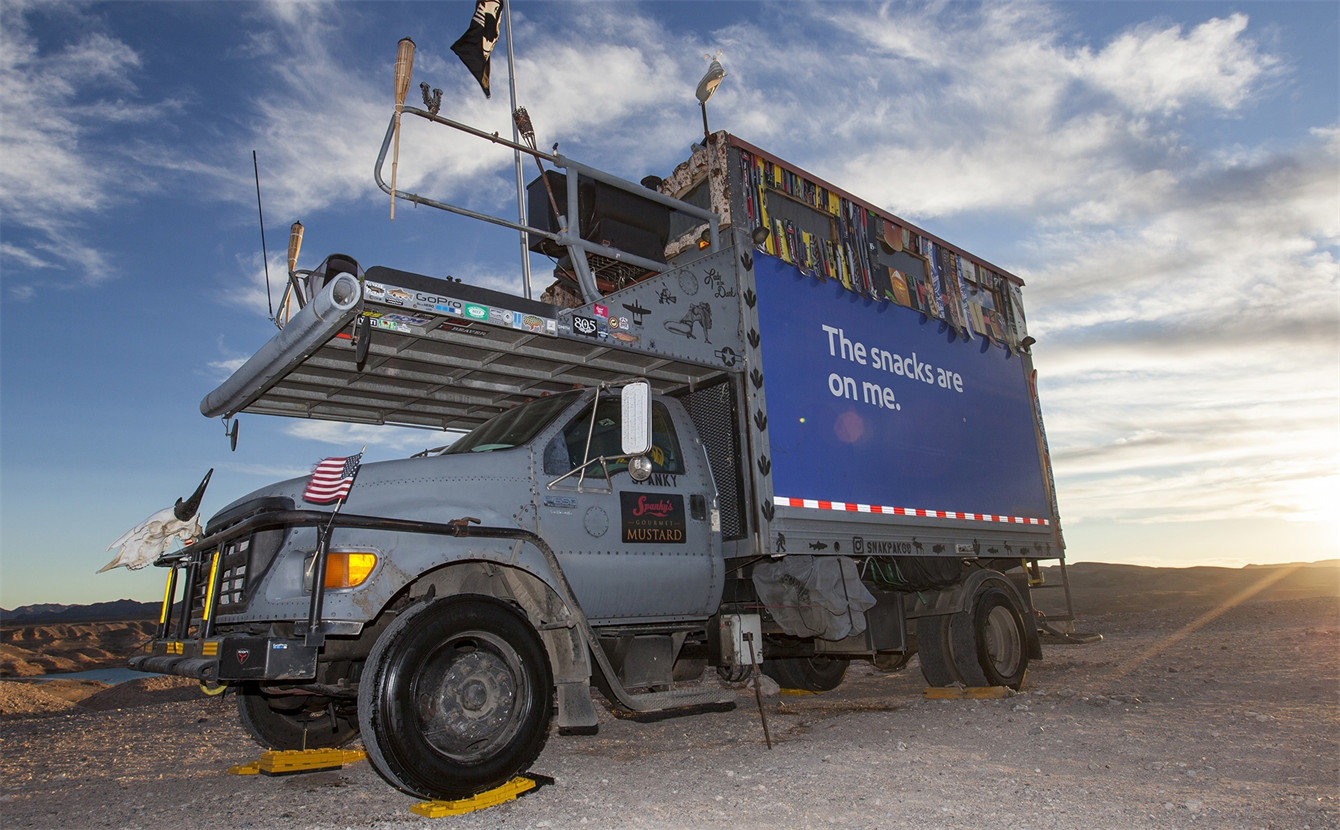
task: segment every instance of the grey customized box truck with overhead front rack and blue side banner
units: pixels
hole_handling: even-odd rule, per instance
[[[387,185],[401,114],[539,160],[529,219]],[[701,712],[918,654],[931,687],[1017,689],[1073,618],[1033,603],[1065,554],[1017,276],[725,131],[635,184],[405,106],[375,177],[524,232],[553,283],[297,270],[295,235],[291,316],[201,412],[460,437],[334,507],[302,477],[225,506],[158,556],[133,668],[454,799],[595,729],[592,687]]]

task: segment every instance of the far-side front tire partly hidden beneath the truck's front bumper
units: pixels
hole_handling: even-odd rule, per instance
[[[237,693],[237,717],[267,750],[328,750],[358,736],[358,723],[318,695],[264,695],[255,684]]]

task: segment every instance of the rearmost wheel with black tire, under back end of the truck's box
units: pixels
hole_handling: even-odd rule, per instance
[[[1017,689],[1028,672],[1028,633],[1013,595],[985,583],[967,613],[950,618],[950,648],[958,676],[970,687]]]

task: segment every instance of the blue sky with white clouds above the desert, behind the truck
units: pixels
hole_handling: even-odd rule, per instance
[[[157,601],[107,544],[410,429],[200,400],[344,252],[520,291],[512,232],[389,200],[395,44],[511,130],[449,47],[464,1],[0,4],[0,606]],[[725,129],[1021,276],[1068,560],[1340,555],[1340,5],[548,3],[512,9],[541,147],[630,180]],[[417,122],[417,123],[410,123]],[[529,177],[529,176],[528,176]],[[406,122],[398,184],[515,215],[509,152]],[[536,257],[536,280],[547,263]]]

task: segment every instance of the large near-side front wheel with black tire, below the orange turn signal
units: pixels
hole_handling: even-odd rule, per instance
[[[553,678],[539,634],[492,597],[402,613],[363,668],[358,723],[373,767],[419,798],[507,783],[549,736]]]

